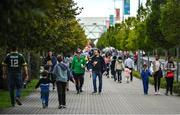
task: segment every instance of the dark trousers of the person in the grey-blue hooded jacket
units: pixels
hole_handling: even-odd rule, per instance
[[[66,82],[57,81],[59,105],[66,105]]]

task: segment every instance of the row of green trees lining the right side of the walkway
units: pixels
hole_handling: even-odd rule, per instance
[[[119,50],[131,51],[178,47],[179,5],[179,0],[147,0],[146,8],[141,5],[136,17],[110,27],[101,36],[97,46],[113,46]]]

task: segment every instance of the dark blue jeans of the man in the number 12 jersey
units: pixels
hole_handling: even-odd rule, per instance
[[[8,86],[11,98],[11,104],[15,105],[15,98],[21,97],[21,88],[23,86],[21,73],[8,73]],[[16,96],[14,96],[14,90],[16,89]]]

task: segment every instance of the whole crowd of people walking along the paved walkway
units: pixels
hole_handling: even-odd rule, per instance
[[[66,108],[66,91],[69,90],[69,81],[75,84],[75,89],[79,95],[83,92],[83,84],[85,79],[85,72],[88,71],[90,77],[92,77],[92,94],[101,94],[103,89],[103,76],[107,78],[113,78],[114,81],[122,83],[122,78],[126,79],[126,83],[133,82],[134,63],[136,63],[137,57],[132,59],[129,53],[122,52],[106,52],[102,54],[99,49],[94,49],[89,53],[83,52],[78,48],[72,56],[63,57],[62,55],[55,55],[52,51],[48,52],[47,57],[44,59],[44,70],[41,73],[42,78],[35,86],[40,87],[40,94],[42,99],[43,108],[48,107],[49,101],[49,88],[50,83],[57,87],[59,109]],[[28,79],[27,63],[24,56],[17,52],[15,47],[12,48],[12,52],[9,53],[3,62],[3,78],[8,78],[9,91],[11,97],[11,104],[15,106],[15,101],[18,105],[22,105],[20,101],[21,88],[22,88],[22,67],[25,70],[25,80]],[[153,70],[150,70],[148,64],[143,64],[141,71],[142,83],[144,94],[148,94],[149,77],[154,78],[155,95],[160,94],[161,78],[163,77],[162,70],[166,71],[166,93],[170,92],[173,95],[173,80],[174,71],[176,70],[175,63],[172,57],[168,58],[168,61],[162,66],[159,61],[159,57],[156,56],[152,62]],[[111,73],[111,74],[110,74]],[[8,76],[8,77],[7,77]],[[97,88],[96,81],[99,81]],[[16,88],[16,96],[14,96],[14,90]]]

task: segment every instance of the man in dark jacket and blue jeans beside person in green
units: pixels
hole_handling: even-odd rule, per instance
[[[100,55],[100,50],[94,51],[94,56],[92,57],[91,63],[92,67],[92,76],[93,76],[93,87],[94,91],[92,92],[97,93],[97,86],[96,86],[96,78],[99,78],[99,88],[98,93],[101,94],[102,92],[102,74],[105,71],[106,65],[103,57]]]

